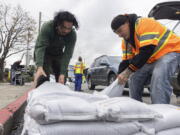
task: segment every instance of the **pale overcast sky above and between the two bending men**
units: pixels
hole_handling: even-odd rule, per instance
[[[118,14],[136,13],[147,17],[149,11],[160,2],[167,0],[1,0],[11,6],[20,5],[37,24],[39,12],[42,23],[53,19],[60,10],[72,12],[80,25],[77,42],[70,64],[75,64],[79,56],[87,67],[101,55],[120,56],[121,39],[111,30],[111,21]],[[169,0],[174,1],[174,0]],[[37,26],[38,28],[38,26]],[[7,66],[21,55],[12,56]]]

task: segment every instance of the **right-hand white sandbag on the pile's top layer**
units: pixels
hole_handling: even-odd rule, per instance
[[[108,121],[145,121],[162,117],[157,112],[149,108],[145,103],[139,102],[129,97],[115,97],[106,100],[97,101],[99,113],[107,114]]]

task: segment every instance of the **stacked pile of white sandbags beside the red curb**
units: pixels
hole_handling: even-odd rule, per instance
[[[128,97],[74,92],[46,82],[28,95],[22,135],[154,135],[142,123],[161,118]]]

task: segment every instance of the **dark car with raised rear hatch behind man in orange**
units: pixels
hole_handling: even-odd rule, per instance
[[[163,2],[155,5],[150,11],[149,17],[155,19],[169,19],[177,21],[172,30],[180,35],[180,1]],[[179,63],[180,67],[180,63]],[[173,92],[176,96],[180,96],[180,68],[177,69],[174,76],[171,78]]]

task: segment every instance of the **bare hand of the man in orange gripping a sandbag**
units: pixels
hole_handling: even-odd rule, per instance
[[[122,73],[120,73],[120,74],[118,75],[118,81],[119,81],[119,83],[120,83],[120,84],[125,84],[125,83],[128,81],[129,76],[130,76],[132,73],[133,73],[133,72],[132,72],[130,69],[126,68]]]

